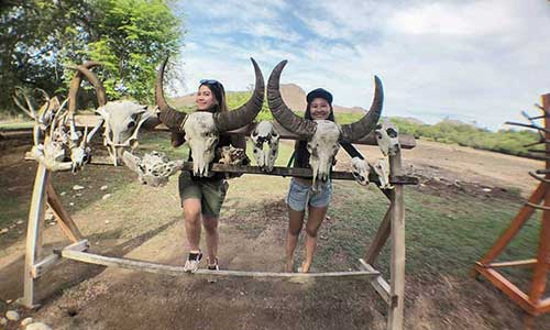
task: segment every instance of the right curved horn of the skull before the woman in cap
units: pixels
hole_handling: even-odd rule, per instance
[[[377,76],[374,76],[374,99],[371,106],[371,110],[359,121],[351,124],[341,125],[342,133],[340,134],[340,141],[343,142],[355,142],[359,139],[371,133],[376,127],[380,116],[382,114],[382,105],[384,103],[384,90],[382,88],[382,81]]]

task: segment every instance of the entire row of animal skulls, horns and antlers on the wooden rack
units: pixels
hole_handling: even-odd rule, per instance
[[[163,79],[167,61],[168,58],[160,66],[155,82],[155,100],[160,110],[158,119],[173,132],[173,145],[180,144],[184,140],[189,143],[194,155],[194,174],[208,176],[209,164],[215,157],[219,134],[248,125],[262,109],[265,94],[262,72],[256,62],[251,58],[255,73],[254,91],[250,100],[239,109],[217,113],[197,111],[187,114],[176,111],[164,98]],[[376,127],[384,98],[382,82],[377,77],[375,77],[374,100],[369,112],[358,122],[338,125],[329,120],[299,118],[285,105],[279,91],[279,78],[285,65],[286,61],[279,63],[270,76],[267,102],[274,118],[284,129],[295,133],[298,139],[307,140],[314,182],[316,178],[328,179],[340,142],[355,142],[376,130],[375,136],[385,155],[398,150],[397,129],[386,121]],[[50,169],[68,168],[74,172],[79,169],[90,158],[91,151],[88,144],[100,127],[105,127],[103,143],[113,164],[118,165],[121,158],[124,160],[122,157],[123,151],[125,148],[133,150],[138,145],[138,132],[151,116],[151,112],[146,111],[146,106],[133,101],[107,101],[105,87],[90,70],[95,66],[98,66],[98,63],[88,62],[72,67],[76,74],[70,84],[68,98],[61,106],[58,101],[50,101],[47,98],[46,105],[37,113],[34,109],[26,111],[35,119],[33,157],[46,164]],[[82,77],[86,77],[96,89],[99,105],[96,112],[101,117],[100,122],[90,133],[86,130],[84,136],[76,131],[74,118],[77,94]],[[68,110],[65,109],[67,102]],[[16,103],[21,107],[20,102],[16,101]],[[31,102],[28,101],[28,105],[31,106]],[[65,129],[66,125],[69,127],[68,131]],[[45,134],[43,143],[40,142],[41,134]],[[266,172],[271,172],[274,167],[278,154],[279,138],[280,134],[267,121],[258,123],[251,133],[254,157],[257,165]],[[267,144],[266,148],[263,147],[264,144]],[[70,158],[70,162],[66,162],[66,158]],[[153,158],[162,160],[162,157]],[[125,160],[134,158],[127,155]],[[374,169],[378,177],[387,178],[387,166],[382,163],[366,166],[364,162],[353,160],[352,167],[352,173],[361,184],[369,182],[370,169]],[[167,173],[173,173],[173,170]],[[388,187],[388,183],[385,183],[385,186]]]

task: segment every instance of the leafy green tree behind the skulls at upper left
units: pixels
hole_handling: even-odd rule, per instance
[[[0,111],[15,86],[65,92],[67,65],[103,64],[111,99],[152,101],[155,67],[178,52],[182,21],[163,0],[28,0],[0,3]],[[86,95],[84,95],[86,98]]]

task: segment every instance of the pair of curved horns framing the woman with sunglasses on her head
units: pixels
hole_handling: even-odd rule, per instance
[[[252,94],[250,100],[240,108],[232,111],[213,113],[213,122],[216,124],[216,128],[218,129],[218,132],[227,132],[242,128],[253,121],[260,110],[262,110],[265,88],[264,77],[262,76],[262,72],[260,70],[260,67],[257,66],[257,63],[254,61],[254,58],[251,58],[251,61],[252,65],[254,66],[254,74],[256,77],[254,92]],[[158,109],[161,110],[158,117],[160,120],[166,127],[168,127],[168,129],[173,133],[183,133],[183,124],[187,114],[172,108],[164,98],[163,80],[164,69],[167,62],[168,57],[166,57],[166,59],[158,68],[155,82],[155,101],[158,106]]]

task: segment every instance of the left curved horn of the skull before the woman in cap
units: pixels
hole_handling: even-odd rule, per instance
[[[296,116],[293,110],[288,109],[280,96],[279,79],[286,63],[287,61],[285,59],[277,64],[270,76],[270,81],[267,82],[267,103],[273,117],[275,117],[283,128],[298,134],[301,139],[307,139],[314,135],[317,130],[317,123]]]

